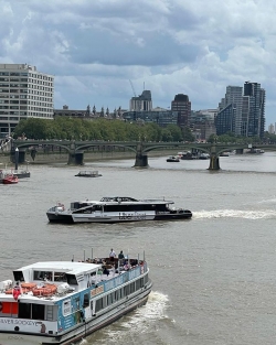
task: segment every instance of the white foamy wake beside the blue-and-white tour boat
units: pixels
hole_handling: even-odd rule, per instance
[[[167,295],[152,291],[149,294],[147,304],[125,315],[118,322],[98,331],[97,344],[106,344],[107,338],[108,344],[129,344],[130,339],[137,338],[142,333],[146,333],[147,330],[151,330],[152,323],[156,321],[168,319],[166,315],[168,301]],[[99,336],[99,333],[102,333],[102,336]],[[88,344],[91,344],[91,339],[93,339],[93,335],[88,337]]]

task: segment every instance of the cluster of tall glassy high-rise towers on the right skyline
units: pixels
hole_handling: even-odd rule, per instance
[[[227,86],[225,97],[219,104],[215,118],[216,133],[227,131],[243,137],[264,137],[265,90],[261,84],[245,82],[240,86]]]

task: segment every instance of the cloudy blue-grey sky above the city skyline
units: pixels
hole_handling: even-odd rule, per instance
[[[267,0],[0,0],[0,63],[55,75],[55,108],[153,107],[187,94],[216,108],[227,85],[266,89],[276,122],[276,2]]]

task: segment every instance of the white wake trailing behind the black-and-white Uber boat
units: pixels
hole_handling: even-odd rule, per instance
[[[274,209],[215,209],[215,211],[200,211],[193,212],[193,219],[211,219],[211,218],[244,218],[244,219],[264,219],[276,218]]]

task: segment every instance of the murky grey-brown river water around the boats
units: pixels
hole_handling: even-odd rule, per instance
[[[275,344],[276,153],[167,163],[150,158],[76,166],[31,165],[31,177],[0,185],[0,279],[39,260],[75,260],[145,250],[153,290],[148,303],[82,344]],[[172,200],[191,220],[52,225],[46,209],[63,202],[126,195]]]

